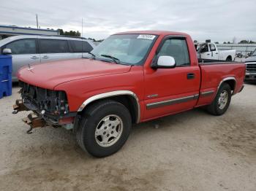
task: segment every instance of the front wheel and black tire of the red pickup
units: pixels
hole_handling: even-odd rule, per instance
[[[94,157],[107,157],[127,141],[132,127],[129,110],[116,101],[98,101],[82,114],[78,144]]]

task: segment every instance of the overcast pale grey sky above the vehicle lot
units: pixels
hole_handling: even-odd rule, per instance
[[[121,31],[181,31],[197,41],[256,41],[255,0],[8,0],[0,25],[62,28],[105,39]],[[235,38],[234,38],[235,37]]]

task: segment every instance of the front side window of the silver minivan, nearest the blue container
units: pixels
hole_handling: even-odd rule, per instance
[[[12,50],[12,55],[28,55],[37,52],[35,39],[20,39],[7,44],[6,48]]]

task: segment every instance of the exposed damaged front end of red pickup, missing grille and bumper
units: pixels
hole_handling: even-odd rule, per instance
[[[76,112],[69,112],[67,95],[64,91],[48,90],[19,82],[21,99],[16,100],[13,114],[32,111],[23,121],[32,128],[64,126],[72,129]],[[31,131],[29,130],[29,132]]]

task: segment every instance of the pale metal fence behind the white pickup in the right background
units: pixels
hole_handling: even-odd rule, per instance
[[[236,53],[246,55],[256,49],[256,44],[217,44],[219,50],[236,50]]]

